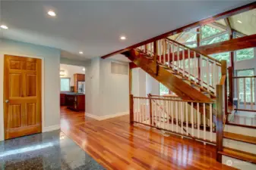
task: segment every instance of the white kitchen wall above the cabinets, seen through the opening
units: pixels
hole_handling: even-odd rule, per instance
[[[74,86],[74,74],[84,74],[83,71],[84,66],[73,66],[68,64],[60,65],[60,70],[63,70],[65,76],[61,76],[62,78],[70,78],[70,86]]]

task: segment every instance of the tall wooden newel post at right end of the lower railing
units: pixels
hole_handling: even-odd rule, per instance
[[[216,160],[222,162],[223,151],[223,85],[216,85]]]

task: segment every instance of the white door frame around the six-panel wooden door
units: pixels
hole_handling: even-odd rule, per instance
[[[45,128],[45,87],[44,87],[44,57],[35,56],[35,55],[27,55],[27,54],[20,54],[20,53],[14,53],[14,52],[8,52],[8,51],[0,51],[0,141],[5,140],[5,128],[4,128],[4,61],[5,61],[5,55],[14,55],[14,56],[21,56],[21,57],[30,57],[30,58],[37,58],[42,60],[42,70],[41,70],[41,116],[42,116],[42,132]]]

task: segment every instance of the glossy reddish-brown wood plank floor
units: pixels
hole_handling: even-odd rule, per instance
[[[215,147],[164,137],[128,116],[96,121],[61,108],[62,131],[107,169],[233,169],[215,160]]]

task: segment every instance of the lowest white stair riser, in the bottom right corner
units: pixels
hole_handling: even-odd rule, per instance
[[[245,161],[242,161],[239,159],[234,159],[229,156],[223,156],[222,161],[223,161],[223,164],[225,164],[225,165],[230,165],[234,168],[239,168],[241,170],[255,170],[256,169],[255,164],[245,162]]]

